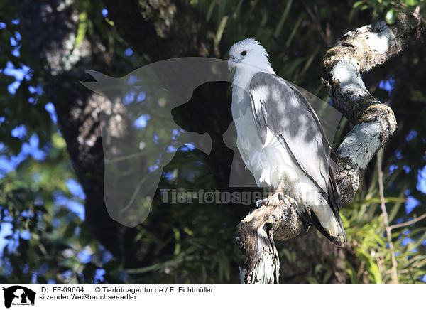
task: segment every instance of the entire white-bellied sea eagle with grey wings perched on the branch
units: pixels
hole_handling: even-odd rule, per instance
[[[317,114],[299,90],[275,75],[258,41],[235,43],[228,65],[236,68],[232,114],[246,167],[258,186],[284,183],[300,218],[341,246],[346,235],[334,179],[338,160]]]

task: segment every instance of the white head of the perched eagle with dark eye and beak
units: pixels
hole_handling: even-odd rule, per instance
[[[273,73],[268,60],[268,53],[258,41],[252,38],[235,43],[229,50],[228,60],[229,70],[236,67],[239,69],[261,70]]]

